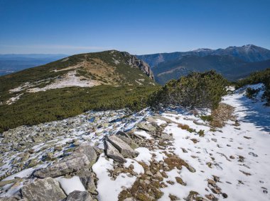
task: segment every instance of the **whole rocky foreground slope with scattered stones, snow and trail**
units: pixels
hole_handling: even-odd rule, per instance
[[[263,104],[242,88],[224,97],[212,122],[202,120],[208,110],[172,107],[16,127],[0,138],[0,196],[269,200],[270,111]]]

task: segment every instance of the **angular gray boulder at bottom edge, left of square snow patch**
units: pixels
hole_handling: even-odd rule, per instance
[[[53,178],[37,179],[21,188],[21,195],[31,201],[58,201],[66,195],[57,180]]]

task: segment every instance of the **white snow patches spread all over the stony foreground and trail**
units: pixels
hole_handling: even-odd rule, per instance
[[[264,103],[260,101],[248,99],[244,96],[243,90],[225,96],[222,102],[234,107],[237,124],[235,121],[228,120],[224,127],[213,130],[207,122],[203,122],[200,117],[186,110],[178,108],[160,113],[161,118],[155,118],[156,124],[166,125],[163,132],[171,134],[173,137],[171,144],[166,149],[158,149],[158,146],[152,147],[153,149],[150,147],[137,148],[139,156],[127,159],[124,163],[125,168],[132,164],[135,174],[119,173],[116,178],[112,179],[109,171],[114,169],[114,163],[112,159],[107,160],[104,154],[101,154],[97,163],[92,166],[98,179],[97,192],[99,194],[97,198],[105,201],[118,200],[121,191],[131,188],[139,179],[139,175],[145,173],[141,163],[149,166],[153,160],[164,162],[164,159],[168,157],[164,154],[167,151],[187,162],[195,168],[195,172],[188,170],[185,166],[182,169],[174,168],[166,171],[168,177],[164,177],[163,182],[167,186],[160,188],[163,195],[159,200],[170,200],[171,195],[183,200],[188,197],[190,191],[197,192],[202,197],[213,194],[219,200],[270,200],[270,173],[268,170],[270,166],[270,108],[265,107]],[[133,130],[137,123],[156,114],[143,110],[123,118],[125,115],[124,110],[91,112],[63,120],[65,126],[80,122],[80,120],[82,122],[69,129],[67,136],[60,135],[53,141],[55,143],[53,147],[63,146],[63,150],[59,153],[56,151],[54,156],[58,157],[63,154],[63,151],[70,148],[68,143],[75,139],[82,144],[96,144],[99,148],[103,148],[103,138],[107,134],[115,133],[118,130]],[[171,123],[166,123],[162,117],[171,120]],[[61,125],[61,122],[38,125],[34,130],[38,130],[38,127],[43,129],[57,127]],[[203,130],[204,135],[199,136],[198,132],[183,130],[179,124],[188,125],[196,131]],[[33,132],[33,127],[23,127],[23,131],[26,132],[29,129]],[[95,127],[95,129],[91,130],[91,127]],[[134,130],[134,133],[148,141],[156,140],[151,133],[146,131]],[[53,151],[52,147],[46,148],[45,145],[46,143],[43,142],[33,144],[32,149],[36,150],[36,155],[31,157],[41,160],[45,156],[44,153],[48,154]],[[14,161],[19,154],[4,154],[5,164],[1,167],[1,171],[11,168],[11,161]],[[36,168],[41,166],[44,164],[39,164]],[[27,178],[34,169],[26,169],[21,173],[9,176],[6,180],[13,179],[14,176]],[[162,171],[160,172],[162,173]],[[181,178],[185,185],[178,183],[177,178]],[[69,179],[58,178],[58,180],[66,193],[70,193],[72,190],[84,190],[76,176]],[[6,185],[4,188],[9,189],[9,186]],[[1,196],[12,195],[16,190],[2,191]],[[221,193],[213,193],[213,190]]]

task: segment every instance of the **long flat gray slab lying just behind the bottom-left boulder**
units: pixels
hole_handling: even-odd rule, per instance
[[[53,165],[48,166],[47,168],[35,171],[33,176],[38,178],[55,178],[58,176],[63,176],[67,173],[80,171],[81,168],[90,166],[90,164],[91,163],[85,154],[74,152],[70,156],[66,156],[58,163],[53,163]]]

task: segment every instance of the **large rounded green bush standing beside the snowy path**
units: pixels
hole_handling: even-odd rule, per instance
[[[182,105],[187,108],[217,108],[226,95],[227,80],[215,71],[193,72],[171,80],[151,98],[151,105]]]

